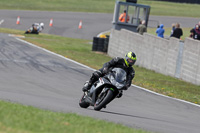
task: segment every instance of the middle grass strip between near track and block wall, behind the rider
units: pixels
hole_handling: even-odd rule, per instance
[[[152,30],[154,31],[154,29]],[[23,34],[21,31],[8,29],[0,29],[0,32]],[[25,40],[95,69],[101,68],[105,62],[111,60],[105,54],[91,51],[92,45],[88,44],[89,40],[47,34],[26,35]],[[133,84],[164,95],[200,104],[200,86],[138,66],[134,66],[134,68],[136,76]]]

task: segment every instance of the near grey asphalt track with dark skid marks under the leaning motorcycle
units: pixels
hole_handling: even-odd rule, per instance
[[[0,33],[0,99],[108,120],[160,133],[199,133],[200,107],[130,87],[106,109],[82,109],[93,71]]]

